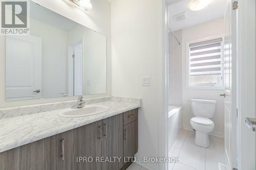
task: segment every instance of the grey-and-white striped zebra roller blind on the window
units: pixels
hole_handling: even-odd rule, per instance
[[[222,75],[222,38],[189,44],[189,76]]]

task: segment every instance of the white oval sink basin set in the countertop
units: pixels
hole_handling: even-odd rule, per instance
[[[65,111],[57,113],[59,117],[65,118],[72,118],[72,117],[85,117],[91,116],[99,113],[103,113],[108,111],[110,108],[108,106],[99,106],[99,105],[92,105],[92,106],[85,106],[80,109],[65,109]]]

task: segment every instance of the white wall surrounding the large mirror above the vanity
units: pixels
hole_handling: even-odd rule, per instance
[[[111,9],[110,3],[105,0],[91,1],[93,9],[90,11],[82,11],[69,2],[65,1],[52,1],[52,0],[33,0],[33,2],[49,8],[69,19],[72,19],[83,26],[93,29],[107,37],[107,92],[106,94],[88,95],[87,98],[92,96],[108,96],[111,95]],[[63,100],[76,99],[71,98],[58,98],[58,99],[41,99],[30,101],[5,101],[5,36],[0,36],[0,108],[23,106],[38,103],[49,103]]]

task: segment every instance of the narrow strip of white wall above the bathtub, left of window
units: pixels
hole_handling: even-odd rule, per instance
[[[172,33],[169,33],[169,105],[182,106],[182,30],[174,32],[179,43]]]

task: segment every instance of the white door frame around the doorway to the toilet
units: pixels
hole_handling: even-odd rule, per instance
[[[247,108],[248,99],[252,100],[253,105],[255,105],[255,59],[254,56],[248,56],[247,54],[247,48],[248,45],[248,2],[252,0],[243,0],[239,1],[239,8],[237,13],[237,107],[238,107],[238,124],[232,125],[234,127],[237,127],[238,133],[237,133],[237,143],[238,143],[238,169],[248,169],[247,168],[247,160],[246,160],[246,149],[242,149],[242,147],[247,147],[246,145],[246,125],[244,118],[247,115],[249,110]],[[162,59],[163,59],[163,111],[160,115],[159,119],[159,155],[167,157],[167,122],[166,122],[166,115],[168,112],[168,99],[167,99],[167,92],[168,92],[168,30],[167,30],[167,19],[168,19],[168,2],[170,0],[162,0]],[[254,37],[255,38],[255,37]],[[248,72],[248,63],[250,63],[250,69],[254,70],[253,72]],[[253,69],[254,66],[254,69]],[[243,75],[243,76],[242,76]],[[246,75],[246,76],[245,76]],[[253,85],[244,83],[246,81],[253,81]],[[249,88],[249,89],[248,89]],[[254,93],[251,96],[248,96],[248,91],[253,91]],[[251,92],[252,93],[252,92]],[[249,97],[249,98],[248,98]],[[254,112],[253,112],[254,114]],[[165,135],[165,136],[164,136]],[[255,138],[253,139],[255,141]],[[248,149],[247,149],[248,150]],[[255,151],[255,148],[253,149]],[[255,160],[254,158],[251,158]],[[255,165],[256,166],[256,165]],[[159,169],[168,169],[167,163],[161,163],[159,164]]]

